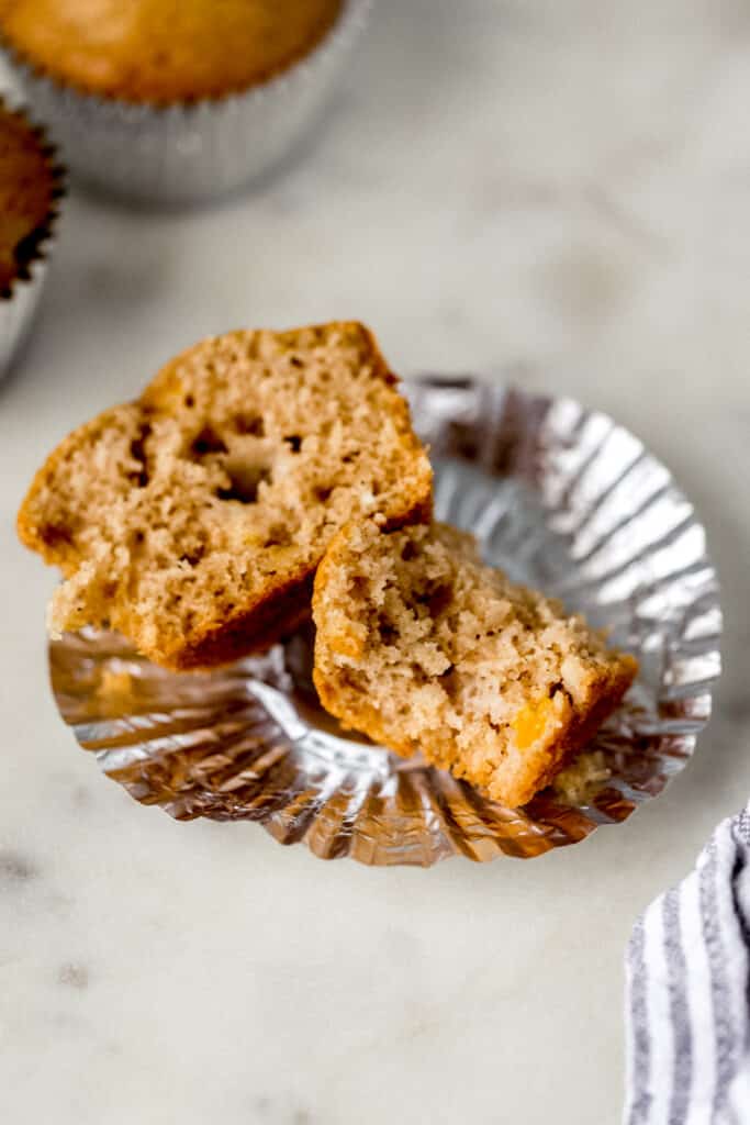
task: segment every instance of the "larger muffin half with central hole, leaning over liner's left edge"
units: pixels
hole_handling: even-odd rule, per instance
[[[428,518],[395,384],[358,323],[231,332],[172,360],[70,434],[24,501],[21,540],[67,579],[52,629],[108,624],[177,669],[291,630],[346,522]]]

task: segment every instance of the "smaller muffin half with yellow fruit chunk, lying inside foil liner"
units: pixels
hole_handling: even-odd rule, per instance
[[[484,566],[445,524],[353,522],[315,579],[315,685],[345,726],[510,808],[618,705],[636,660],[582,618]]]

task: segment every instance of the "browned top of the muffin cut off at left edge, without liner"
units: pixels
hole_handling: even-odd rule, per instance
[[[55,198],[55,171],[39,133],[0,101],[0,297],[37,254]]]

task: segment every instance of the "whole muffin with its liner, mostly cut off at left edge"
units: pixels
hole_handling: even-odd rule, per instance
[[[62,170],[42,129],[0,99],[0,377],[31,323]]]

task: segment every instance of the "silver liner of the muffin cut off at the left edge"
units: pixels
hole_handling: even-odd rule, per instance
[[[65,172],[56,161],[56,150],[47,141],[45,130],[30,122],[22,109],[8,105],[4,98],[0,98],[0,107],[20,117],[36,134],[49,161],[49,171],[53,176],[52,209],[45,223],[30,240],[28,260],[21,264],[13,278],[10,291],[0,294],[0,381],[2,381],[29,334],[42,297],[54,245],[60,204],[65,194]]]

